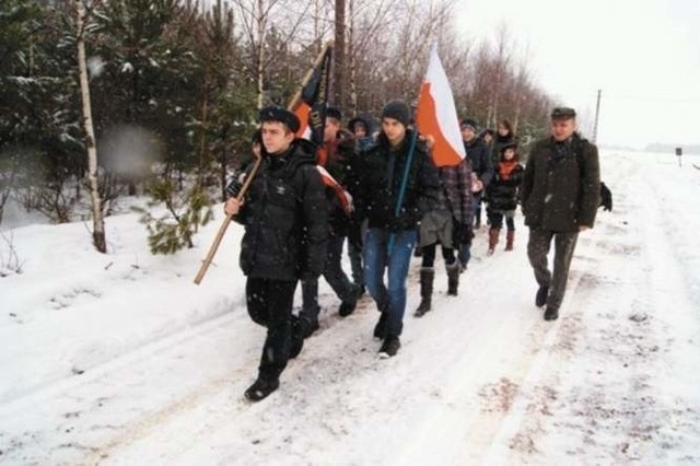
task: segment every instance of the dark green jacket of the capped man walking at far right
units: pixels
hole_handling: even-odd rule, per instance
[[[564,142],[548,138],[534,144],[521,189],[526,225],[553,232],[593,228],[599,196],[598,149],[594,144],[578,135]]]

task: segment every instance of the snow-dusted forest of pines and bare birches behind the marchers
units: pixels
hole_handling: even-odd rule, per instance
[[[287,105],[329,40],[329,104],[346,120],[415,104],[438,44],[459,117],[508,118],[523,144],[544,135],[555,102],[528,50],[505,25],[465,39],[453,5],[0,0],[0,223],[9,202],[55,223],[92,219],[106,252],[104,218],[142,196],[151,251],[192,247],[249,156],[257,109]]]

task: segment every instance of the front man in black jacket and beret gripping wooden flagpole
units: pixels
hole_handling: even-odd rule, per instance
[[[257,401],[279,387],[289,359],[292,303],[299,279],[317,279],[324,266],[328,209],[314,148],[295,139],[296,116],[282,107],[260,110],[262,162],[241,202],[225,212],[245,225],[241,269],[247,276],[248,314],[267,327],[258,377],[245,392]]]

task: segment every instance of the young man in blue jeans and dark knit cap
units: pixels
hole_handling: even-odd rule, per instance
[[[406,103],[389,102],[381,119],[376,144],[359,159],[350,188],[369,225],[364,282],[381,312],[374,336],[383,339],[381,356],[393,357],[400,348],[416,226],[431,205],[429,198],[436,198],[441,187],[425,143],[408,128],[410,110]]]

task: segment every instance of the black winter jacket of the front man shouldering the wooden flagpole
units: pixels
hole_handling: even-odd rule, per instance
[[[313,144],[298,139],[284,154],[265,154],[234,220],[245,225],[240,258],[245,275],[317,278],[326,255],[328,208]]]

